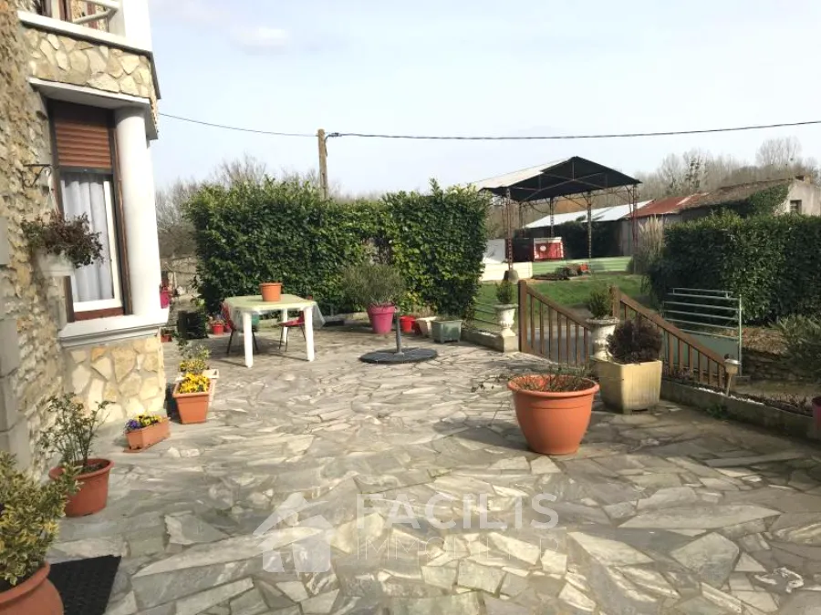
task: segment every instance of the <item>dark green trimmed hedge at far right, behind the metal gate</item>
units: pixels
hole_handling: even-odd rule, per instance
[[[724,213],[670,226],[650,267],[653,294],[674,287],[741,296],[745,323],[821,312],[821,218]]]

